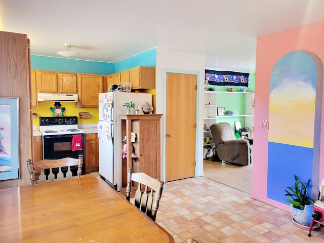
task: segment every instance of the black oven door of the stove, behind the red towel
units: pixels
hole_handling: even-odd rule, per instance
[[[78,134],[78,135],[82,135],[82,149],[75,150],[75,151],[72,151],[72,134],[44,135],[43,136],[43,159],[58,159],[58,158],[65,158],[65,157],[78,158],[79,154],[85,155],[84,152],[85,134]],[[75,167],[77,168],[77,166]],[[85,173],[85,157],[84,157],[84,163],[82,165],[82,174],[84,173]]]

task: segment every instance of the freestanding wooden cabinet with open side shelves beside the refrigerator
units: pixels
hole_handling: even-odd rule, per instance
[[[120,115],[121,147],[127,144],[127,157],[122,158],[122,185],[120,192],[125,192],[127,185],[127,168],[132,167],[134,173],[144,172],[150,177],[160,180],[160,119],[161,114]],[[132,142],[132,133],[136,133]],[[123,137],[126,136],[126,142]],[[138,158],[132,157],[132,146]],[[124,189],[123,189],[124,188]]]

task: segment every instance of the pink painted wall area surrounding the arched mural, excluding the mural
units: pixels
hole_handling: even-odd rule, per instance
[[[267,197],[268,131],[261,129],[261,120],[269,119],[271,70],[282,56],[293,51],[312,52],[324,62],[324,22],[257,39],[252,197],[286,211],[289,211],[289,206]],[[324,107],[323,104],[322,107]],[[321,138],[324,138],[323,113],[321,117],[322,129],[315,133]],[[271,124],[269,124],[269,128],[271,129]],[[324,144],[324,139],[321,139],[321,144]],[[324,154],[322,151],[320,153],[320,166],[313,169],[319,170],[319,178],[324,177]]]

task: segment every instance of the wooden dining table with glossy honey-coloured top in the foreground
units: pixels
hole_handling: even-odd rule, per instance
[[[0,242],[174,242],[97,177],[0,190]]]

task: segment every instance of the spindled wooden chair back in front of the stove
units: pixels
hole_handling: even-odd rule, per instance
[[[77,177],[80,177],[82,174],[82,164],[83,164],[83,155],[80,154],[78,158],[59,158],[59,159],[43,159],[32,163],[31,159],[27,159],[27,168],[29,172],[29,178],[31,184],[36,184],[35,180],[35,171],[41,170],[41,175],[39,175],[39,183],[53,182],[55,181],[55,175],[53,173],[54,168],[58,168],[59,172],[57,174],[57,180],[61,181],[64,179],[64,174],[62,172],[62,167],[67,167],[67,172],[65,174],[66,179],[72,178],[72,172],[70,167],[77,166]],[[45,169],[50,169],[50,174],[48,180],[46,179]]]

